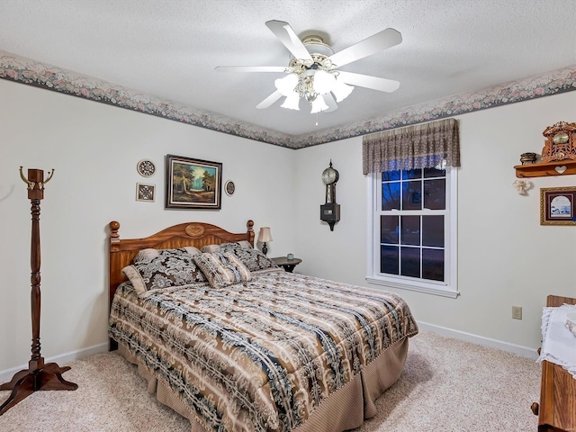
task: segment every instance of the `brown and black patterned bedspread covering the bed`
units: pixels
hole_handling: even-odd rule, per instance
[[[394,293],[295,275],[148,291],[121,284],[109,333],[217,431],[289,431],[418,333]]]

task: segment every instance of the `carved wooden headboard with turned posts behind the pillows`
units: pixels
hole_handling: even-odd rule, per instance
[[[136,257],[140,249],[154,247],[156,249],[168,249],[175,247],[193,246],[199,249],[206,245],[217,245],[232,241],[247,240],[254,246],[254,221],[248,220],[247,230],[242,233],[232,233],[226,229],[221,229],[210,223],[187,222],[162,229],[160,232],[146,238],[126,238],[121,239],[118,230],[120,223],[112,220],[110,226],[110,291],[109,304],[116,288],[126,278],[121,274],[121,269],[129,266],[132,259]]]

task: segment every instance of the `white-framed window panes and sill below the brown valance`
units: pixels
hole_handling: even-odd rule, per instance
[[[456,297],[455,169],[371,175],[367,280]]]

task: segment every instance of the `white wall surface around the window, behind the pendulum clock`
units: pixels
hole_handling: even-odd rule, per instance
[[[527,151],[541,153],[543,130],[575,121],[576,92],[458,116],[462,167],[458,175],[458,284],[460,297],[395,290],[416,319],[509,346],[540,346],[546,296],[576,296],[576,227],[540,226],[540,187],[576,185],[576,176],[536,177],[528,196],[513,188],[513,166]],[[320,222],[329,159],[340,173],[341,220],[334,232]],[[364,286],[368,225],[362,139],[296,152],[298,271]],[[511,319],[511,306],[523,320]]]

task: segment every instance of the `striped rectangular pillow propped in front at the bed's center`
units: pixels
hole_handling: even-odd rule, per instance
[[[240,284],[252,280],[246,266],[231,253],[214,252],[194,255],[194,262],[202,269],[213,288]]]

